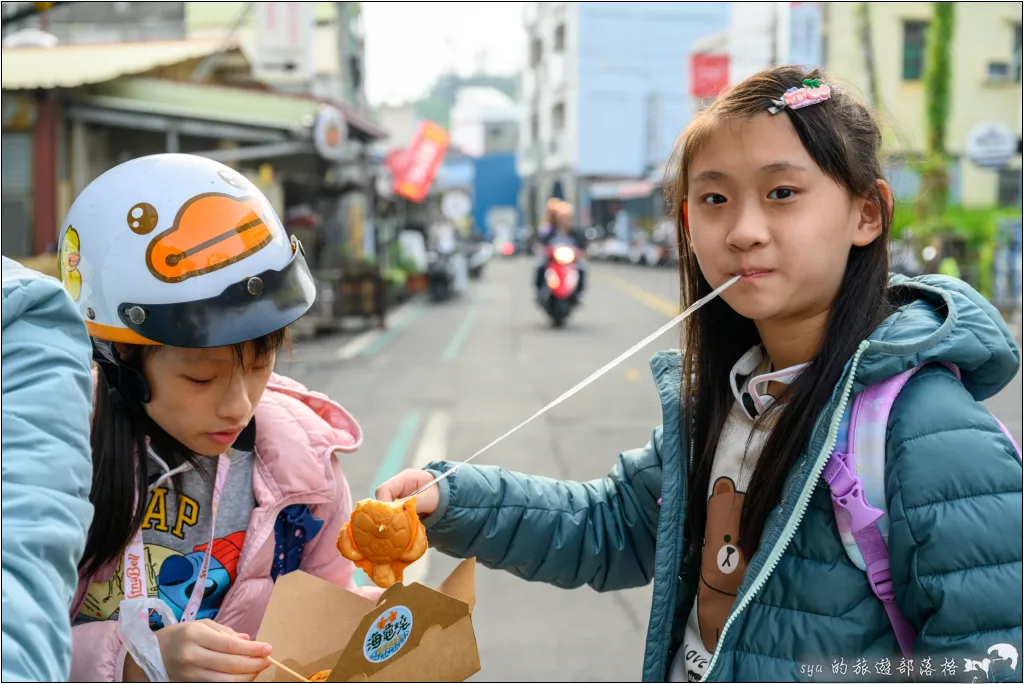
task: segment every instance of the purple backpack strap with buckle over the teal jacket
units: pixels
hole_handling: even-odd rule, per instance
[[[957,378],[961,378],[959,369],[950,364],[943,364]],[[913,642],[916,633],[913,627],[900,612],[896,604],[896,597],[893,593],[892,572],[889,565],[889,549],[886,547],[885,539],[876,522],[884,515],[884,512],[871,506],[864,497],[863,482],[857,475],[856,454],[854,444],[858,424],[865,426],[865,422],[870,420],[879,423],[885,428],[888,424],[889,414],[893,403],[899,395],[907,381],[921,370],[921,366],[910,369],[900,375],[892,377],[883,382],[865,388],[860,392],[853,402],[850,414],[849,429],[845,453],[840,451],[840,444],[836,445],[825,464],[825,469],[821,473],[822,479],[828,484],[831,491],[833,502],[837,512],[846,511],[849,514],[849,527],[853,533],[853,539],[863,556],[864,570],[867,574],[867,582],[871,591],[879,597],[885,606],[886,614],[896,633],[896,641],[899,643],[903,655],[909,658],[913,652]],[[994,418],[994,417],[993,417]],[[1017,452],[1017,458],[1021,458],[1021,450],[1007,427],[995,419],[999,429],[1013,443]],[[884,434],[882,432],[881,434]],[[882,454],[885,454],[885,444],[880,444]],[[844,520],[842,524],[846,524]]]

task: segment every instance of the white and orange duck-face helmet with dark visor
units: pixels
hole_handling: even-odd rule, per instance
[[[219,347],[280,330],[315,285],[263,194],[193,155],[125,162],[60,229],[60,280],[96,340]]]

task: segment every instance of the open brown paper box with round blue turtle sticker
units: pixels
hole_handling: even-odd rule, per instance
[[[397,584],[375,604],[302,571],[274,584],[257,639],[304,677],[331,682],[462,682],[480,670],[473,632],[475,559],[436,589]],[[294,682],[270,666],[257,682]]]

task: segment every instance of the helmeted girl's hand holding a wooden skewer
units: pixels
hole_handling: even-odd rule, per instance
[[[251,682],[270,665],[269,644],[210,619],[170,625],[157,632],[157,640],[172,682]],[[147,681],[130,655],[124,681]]]

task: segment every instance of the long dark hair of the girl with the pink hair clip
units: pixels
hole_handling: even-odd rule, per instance
[[[721,122],[767,112],[772,100],[804,79],[820,78],[780,67],[756,74],[723,93],[698,115],[683,134],[676,149],[673,174],[667,180],[670,207],[676,219],[680,248],[680,296],[683,308],[712,291],[697,264],[685,234],[683,207],[687,200],[690,164],[709,135]],[[771,432],[758,459],[749,485],[757,496],[745,497],[740,515],[737,546],[750,559],[761,544],[769,513],[782,495],[785,478],[807,446],[818,415],[824,410],[843,369],[857,345],[888,313],[888,234],[892,207],[879,186],[883,178],[879,152],[882,133],[870,111],[833,87],[825,102],[793,111],[783,110],[815,164],[851,196],[867,199],[879,207],[882,233],[865,247],[853,247],[839,294],[828,311],[821,344],[807,368],[784,390],[767,415]],[[710,302],[685,323],[681,415],[689,421],[693,468],[689,477],[690,499],[687,536],[702,540],[707,521],[706,493],[711,481],[719,435],[735,397],[729,372],[736,359],[761,342],[754,322],[736,313],[722,298]]]

